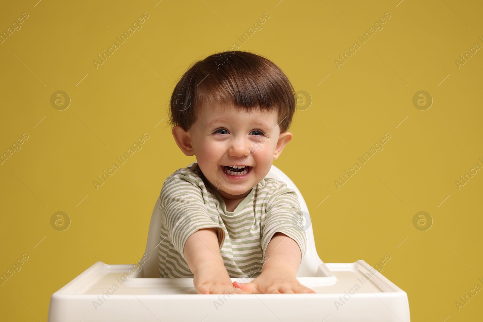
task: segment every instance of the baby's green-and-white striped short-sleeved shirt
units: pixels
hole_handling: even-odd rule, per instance
[[[283,181],[264,178],[234,211],[211,188],[198,163],[180,168],[163,183],[160,195],[159,276],[194,277],[185,261],[188,237],[213,227],[229,277],[260,275],[265,250],[276,232],[294,239],[301,258],[307,249],[297,193]],[[266,260],[269,260],[267,258]]]

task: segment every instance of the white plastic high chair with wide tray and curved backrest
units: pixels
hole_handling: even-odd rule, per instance
[[[140,265],[96,262],[52,294],[47,322],[410,322],[406,292],[365,261],[322,262],[300,191],[274,165],[266,177],[297,192],[307,252],[296,277],[316,294],[197,294],[193,278],[159,278],[158,198]]]

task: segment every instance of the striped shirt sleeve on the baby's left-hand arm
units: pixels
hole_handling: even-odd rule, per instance
[[[186,240],[201,228],[214,228],[220,250],[225,240],[225,231],[210,217],[196,181],[193,176],[177,174],[168,178],[161,189],[161,225],[183,259]]]

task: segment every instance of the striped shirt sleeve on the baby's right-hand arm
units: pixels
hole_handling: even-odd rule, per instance
[[[301,260],[307,251],[307,237],[302,222],[303,214],[300,210],[297,193],[288,188],[285,182],[282,182],[269,197],[262,232],[263,258],[265,258],[265,250],[270,239],[276,232],[281,232],[297,242]]]

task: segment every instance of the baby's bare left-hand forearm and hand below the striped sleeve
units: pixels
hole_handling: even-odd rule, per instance
[[[214,228],[202,228],[191,234],[186,239],[184,255],[194,274],[198,294],[245,293],[234,289],[231,283]]]

